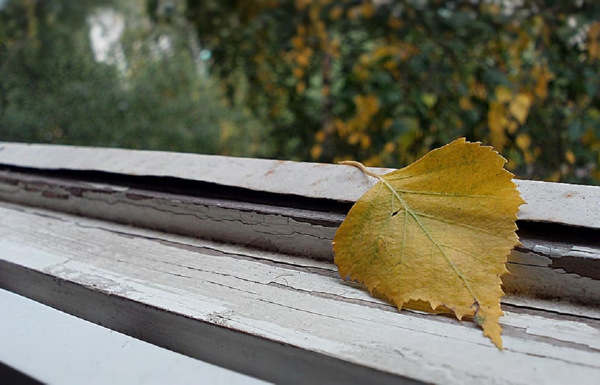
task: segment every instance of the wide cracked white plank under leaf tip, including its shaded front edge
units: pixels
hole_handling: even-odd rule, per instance
[[[560,303],[548,310],[509,297],[499,351],[472,322],[398,312],[342,281],[328,261],[8,203],[0,203],[0,250],[2,287],[266,380],[329,372],[355,382],[361,368],[371,383],[592,384],[600,376],[597,303],[574,315]]]

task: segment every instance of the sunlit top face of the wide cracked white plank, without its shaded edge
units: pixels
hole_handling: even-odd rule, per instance
[[[339,278],[265,254],[231,245],[219,253],[218,244],[211,254],[155,232],[20,210],[0,208],[0,260],[107,295],[422,381],[585,384],[600,375],[593,320],[508,314],[499,351],[472,323],[373,306]],[[581,335],[574,322],[585,325]]]

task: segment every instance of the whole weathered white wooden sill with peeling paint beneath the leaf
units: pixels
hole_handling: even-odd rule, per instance
[[[352,167],[0,143],[0,287],[269,381],[593,383],[600,188],[519,181],[505,350],[332,264]]]

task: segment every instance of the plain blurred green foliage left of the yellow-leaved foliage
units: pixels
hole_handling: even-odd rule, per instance
[[[260,125],[200,74],[179,25],[140,20],[140,4],[9,1],[0,11],[0,140],[255,154]],[[89,17],[115,8],[128,26],[121,68],[98,62],[89,36]],[[161,37],[169,49],[157,49]],[[223,137],[227,127],[248,130]]]

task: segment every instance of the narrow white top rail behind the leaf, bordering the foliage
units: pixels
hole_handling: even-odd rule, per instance
[[[352,166],[218,155],[0,142],[0,164],[38,169],[97,170],[356,201],[376,181]],[[391,169],[372,169],[384,173]],[[600,187],[515,180],[527,201],[518,218],[600,228]]]

